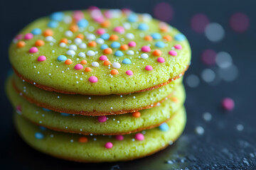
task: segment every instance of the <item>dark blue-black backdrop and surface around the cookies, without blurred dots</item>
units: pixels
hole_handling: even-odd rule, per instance
[[[201,79],[199,86],[186,86],[186,109],[188,123],[181,138],[162,152],[132,162],[110,164],[80,164],[66,162],[36,152],[18,137],[12,124],[12,108],[4,93],[4,81],[11,68],[8,59],[9,44],[31,21],[47,16],[53,11],[100,8],[131,8],[138,13],[151,13],[160,2],[173,8],[170,22],[186,35],[191,43],[192,65],[186,77],[209,67],[201,62],[203,50],[225,51],[233,57],[238,67],[238,78],[231,82],[220,81],[212,86]],[[256,169],[256,113],[255,113],[255,63],[256,63],[256,1],[1,1],[1,169]],[[230,28],[233,13],[245,13],[250,27],[244,33]],[[191,29],[191,18],[197,13],[205,14],[210,22],[220,23],[225,37],[220,42],[211,42],[204,33]],[[186,79],[185,79],[186,80]],[[186,85],[186,83],[184,82]],[[235,101],[233,111],[224,111],[220,106],[223,98]],[[203,113],[212,115],[210,121]],[[238,130],[237,125],[243,125]],[[195,128],[205,131],[198,135]],[[171,160],[171,164],[166,161]]]

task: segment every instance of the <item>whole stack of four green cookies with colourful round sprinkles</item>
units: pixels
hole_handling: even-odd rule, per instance
[[[24,141],[78,162],[137,159],[186,124],[186,37],[147,13],[56,12],[21,30],[6,91]]]

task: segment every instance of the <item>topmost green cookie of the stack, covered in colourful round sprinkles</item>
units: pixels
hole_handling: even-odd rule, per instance
[[[56,12],[21,30],[9,49],[19,77],[66,94],[129,94],[181,77],[186,37],[149,14],[127,10]]]

